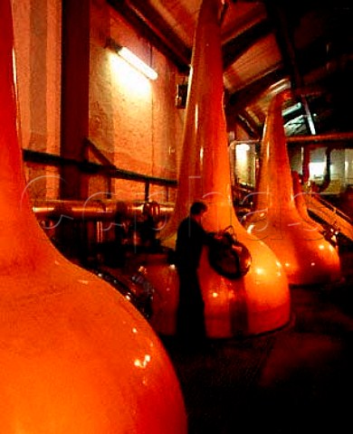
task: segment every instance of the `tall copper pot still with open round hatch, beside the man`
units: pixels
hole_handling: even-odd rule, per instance
[[[160,239],[174,246],[178,224],[191,203],[203,200],[206,231],[228,226],[251,252],[252,265],[242,278],[221,276],[210,266],[205,247],[199,281],[205,300],[209,337],[256,335],[288,323],[289,285],[280,261],[262,241],[253,239],[238,221],[231,199],[230,164],[224,118],[221,55],[221,0],[204,0],[198,16],[186,101],[183,154],[179,168],[176,204]],[[164,270],[163,273],[161,270]],[[148,264],[148,278],[162,296],[152,323],[162,334],[175,333],[178,282],[171,266]]]

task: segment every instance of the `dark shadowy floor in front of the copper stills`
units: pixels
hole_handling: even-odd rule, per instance
[[[162,338],[189,434],[353,432],[353,251],[341,263],[342,282],[291,288],[281,330],[196,354]]]

